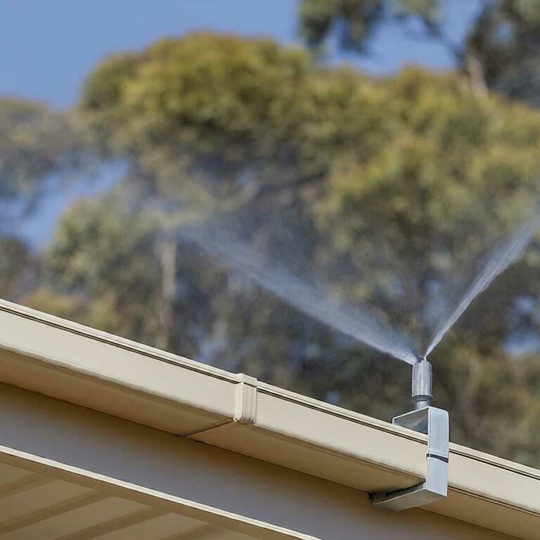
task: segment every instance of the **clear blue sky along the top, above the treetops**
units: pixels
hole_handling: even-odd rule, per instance
[[[449,32],[463,35],[478,0],[451,0]],[[0,95],[72,105],[84,76],[104,56],[200,29],[298,42],[297,0],[1,0]],[[374,73],[404,63],[451,68],[435,43],[406,39],[398,27],[378,33],[371,54],[352,58]]]

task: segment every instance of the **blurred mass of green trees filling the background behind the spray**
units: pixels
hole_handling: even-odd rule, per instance
[[[371,302],[422,338],[433,290],[466,277],[538,195],[540,113],[498,86],[514,60],[488,67],[499,54],[495,23],[475,37],[482,21],[518,25],[535,3],[512,4],[482,4],[455,48],[461,72],[374,79],[300,47],[206,32],[105,58],[69,113],[17,102],[35,125],[15,137],[15,115],[1,129],[10,207],[25,200],[32,210],[74,155],[122,162],[124,172],[110,191],[70,205],[43,250],[4,233],[0,295],[378,418],[405,411],[409,366],[288,307],[177,228],[219,218],[276,266],[285,261],[328,295]],[[363,53],[388,17],[446,39],[437,1],[300,8],[311,46],[339,32]],[[506,51],[527,41],[512,28]],[[452,440],[532,465],[538,250],[535,241],[433,359]]]

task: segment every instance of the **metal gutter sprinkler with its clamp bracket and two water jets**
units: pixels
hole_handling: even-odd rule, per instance
[[[328,298],[323,286],[307,282],[289,271],[285,264],[276,264],[274,259],[263,257],[250,245],[238,240],[232,231],[227,230],[226,224],[214,221],[210,226],[186,227],[179,231],[179,236],[197,243],[212,257],[217,257],[231,269],[240,271],[314,319],[411,364],[414,410],[396,416],[392,423],[417,434],[427,435],[425,480],[406,489],[370,495],[375,508],[398,511],[444,499],[448,489],[449,417],[446,411],[431,405],[432,368],[427,357],[470,303],[522,256],[539,225],[540,212],[536,211],[517,233],[489,252],[468,288],[448,302],[443,316],[435,319],[437,325],[421,352],[408,335],[394,328],[386,317],[380,316],[369,304],[354,306]],[[415,438],[422,440],[418,435]]]

